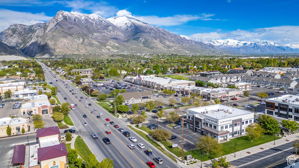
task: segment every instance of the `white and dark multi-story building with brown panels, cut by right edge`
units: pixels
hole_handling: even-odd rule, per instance
[[[265,102],[266,114],[299,121],[299,96],[286,94],[266,99]]]

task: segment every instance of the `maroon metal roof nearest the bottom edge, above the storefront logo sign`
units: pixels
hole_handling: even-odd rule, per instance
[[[64,143],[37,149],[37,161],[44,161],[66,155],[68,155],[68,151]]]

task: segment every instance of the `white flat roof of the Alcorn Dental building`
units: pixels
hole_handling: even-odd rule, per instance
[[[195,113],[200,113],[205,112],[204,115],[215,118],[217,120],[221,120],[224,118],[229,118],[229,117],[236,117],[244,114],[250,114],[252,112],[248,112],[242,109],[237,109],[229,106],[224,106],[221,104],[215,104],[215,105],[210,105],[210,106],[202,106],[202,107],[196,107],[192,109],[187,109]],[[219,110],[219,111],[218,111]],[[208,111],[208,114],[206,113]]]

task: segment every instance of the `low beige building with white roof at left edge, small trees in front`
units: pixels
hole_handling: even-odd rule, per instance
[[[21,134],[23,127],[25,129],[25,132],[28,132],[29,117],[0,118],[0,137],[7,136],[6,134],[7,125],[11,127],[11,135]]]

